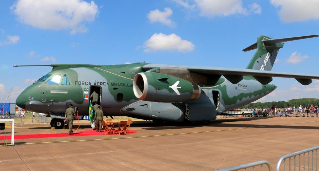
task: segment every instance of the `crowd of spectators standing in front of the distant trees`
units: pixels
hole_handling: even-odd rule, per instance
[[[277,108],[275,105],[264,109],[246,108],[244,111],[251,111],[254,116],[267,115],[267,116],[296,116],[296,117],[318,117],[318,105],[300,105],[299,107],[283,107]]]

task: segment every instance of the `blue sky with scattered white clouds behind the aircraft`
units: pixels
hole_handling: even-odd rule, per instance
[[[2,0],[0,101],[9,101],[51,67],[13,65],[143,62],[245,68],[258,35],[319,34],[314,0]],[[286,42],[273,71],[317,74],[319,38]],[[274,78],[259,101],[318,98],[308,86]]]

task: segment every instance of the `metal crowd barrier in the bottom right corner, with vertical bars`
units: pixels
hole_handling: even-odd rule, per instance
[[[316,153],[315,154],[316,171],[318,171],[318,165],[317,165],[317,163],[318,163],[317,162],[317,150],[318,149],[319,149],[319,146],[282,156],[278,160],[278,163],[276,166],[276,171],[280,171],[280,166],[282,165],[282,163],[283,163],[283,170],[282,171],[286,170],[286,160],[289,160],[289,162],[287,162],[289,164],[289,171],[291,171],[292,167],[294,168],[294,171],[296,171],[296,164],[298,164],[298,166],[297,166],[298,171],[301,171],[301,168],[303,168],[303,171],[305,171],[305,170],[306,171],[310,171],[310,170],[314,171],[314,152]],[[293,162],[291,161],[292,158],[294,159]],[[297,163],[296,163],[296,158],[297,158]]]

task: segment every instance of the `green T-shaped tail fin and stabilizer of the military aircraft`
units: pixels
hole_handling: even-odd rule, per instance
[[[284,47],[283,42],[318,37],[319,35],[271,39],[267,36],[258,36],[257,43],[243,49],[244,52],[257,49],[246,69],[271,70],[274,66],[278,51]]]

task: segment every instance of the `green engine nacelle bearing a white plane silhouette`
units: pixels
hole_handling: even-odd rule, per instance
[[[135,75],[136,98],[154,102],[182,102],[199,98],[201,88],[187,80],[167,74],[144,72]]]

